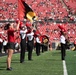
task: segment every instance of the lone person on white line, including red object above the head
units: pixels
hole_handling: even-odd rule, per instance
[[[66,28],[62,25],[58,25],[60,28],[60,44],[61,44],[61,60],[65,60],[66,56]]]

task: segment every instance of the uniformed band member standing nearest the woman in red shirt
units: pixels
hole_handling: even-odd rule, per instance
[[[27,32],[27,28],[25,26],[22,26],[21,30],[20,30],[20,36],[21,36],[21,42],[20,42],[20,46],[21,46],[20,63],[23,63],[24,59],[25,59],[26,32]]]

